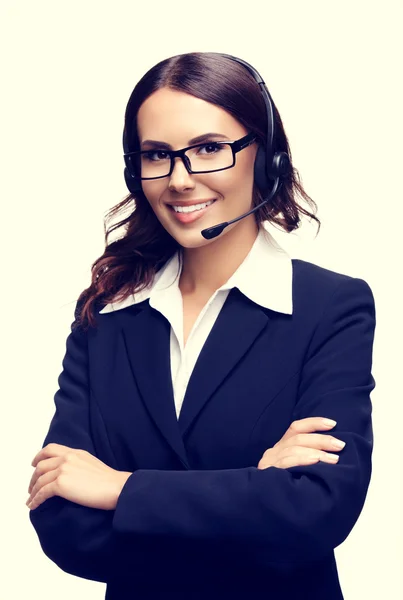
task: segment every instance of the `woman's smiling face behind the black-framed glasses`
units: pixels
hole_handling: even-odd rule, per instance
[[[141,150],[155,150],[158,146],[146,140],[164,142],[159,148],[169,145],[179,150],[193,143],[193,138],[206,133],[220,134],[208,141],[234,141],[247,133],[241,123],[224,109],[200,98],[183,92],[161,88],[149,96],[137,114],[137,130]],[[206,146],[202,152],[211,151]],[[143,192],[155,215],[167,232],[184,248],[196,248],[213,243],[206,240],[201,230],[230,221],[252,208],[253,165],[257,144],[246,147],[236,154],[235,166],[215,173],[190,174],[180,158],[170,176],[155,180],[143,180]],[[157,158],[161,155],[156,155]],[[199,217],[182,223],[175,216],[172,204],[199,204],[215,200]],[[194,213],[197,214],[197,213]],[[234,227],[250,228],[255,231],[255,216],[252,214],[224,229],[222,238]]]

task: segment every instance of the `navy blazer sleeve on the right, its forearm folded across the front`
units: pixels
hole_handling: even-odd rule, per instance
[[[375,304],[369,285],[346,278],[318,318],[293,420],[325,416],[344,440],[337,464],[279,469],[137,470],[126,481],[113,529],[199,542],[230,542],[254,562],[328,555],[364,505],[373,445],[370,392]],[[322,433],[322,432],[321,432]]]

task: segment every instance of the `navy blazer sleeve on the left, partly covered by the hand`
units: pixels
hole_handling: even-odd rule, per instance
[[[77,303],[76,319],[79,307]],[[42,447],[57,443],[97,456],[89,420],[87,336],[80,326],[74,331],[72,327],[67,337],[62,367],[56,410]],[[123,542],[116,541],[112,511],[53,496],[31,510],[29,517],[44,553],[67,573],[106,582],[118,570],[125,572],[127,554]],[[119,561],[114,560],[119,556]]]

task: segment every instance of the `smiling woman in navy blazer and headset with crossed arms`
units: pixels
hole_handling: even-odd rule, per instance
[[[32,462],[42,548],[109,600],[339,600],[371,476],[370,287],[264,227],[319,221],[247,63],[157,64],[124,148],[111,214],[135,210],[78,299]]]

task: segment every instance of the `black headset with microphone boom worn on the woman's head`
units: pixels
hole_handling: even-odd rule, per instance
[[[264,204],[269,202],[276,192],[279,190],[282,180],[289,174],[291,170],[291,160],[289,155],[286,152],[276,152],[274,148],[274,111],[273,111],[273,101],[271,99],[269,90],[266,87],[265,82],[263,81],[260,74],[256,71],[252,65],[247,63],[246,61],[232,56],[231,54],[222,54],[218,52],[212,52],[209,54],[215,54],[217,56],[223,56],[230,60],[233,60],[241,65],[243,65],[249,73],[253,76],[256,83],[259,85],[259,89],[262,93],[263,100],[266,106],[267,111],[267,142],[266,147],[259,144],[258,151],[256,153],[255,163],[254,163],[254,182],[257,185],[262,197],[265,198],[263,202],[255,206],[249,212],[233,219],[232,221],[228,221],[225,223],[219,223],[218,225],[214,225],[213,227],[209,227],[207,229],[203,229],[201,234],[205,239],[211,239],[213,237],[218,236],[225,227],[231,225],[231,223],[235,223],[244,217],[256,212],[261,208]],[[130,100],[129,100],[130,104]],[[126,109],[126,112],[127,109]],[[128,143],[128,133],[126,130],[126,126],[123,130],[123,158],[125,160],[125,170],[124,177],[126,181],[127,188],[132,194],[136,194],[139,191],[142,191],[141,187],[141,179],[138,179],[134,176],[134,174],[128,169],[128,160],[126,159],[126,155],[131,152]],[[274,183],[273,183],[274,180]]]

